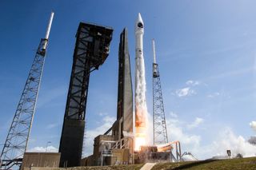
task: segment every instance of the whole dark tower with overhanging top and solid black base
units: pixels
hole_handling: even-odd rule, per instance
[[[108,57],[112,33],[110,27],[79,24],[59,145],[60,167],[80,165],[90,73]]]

